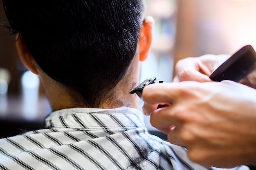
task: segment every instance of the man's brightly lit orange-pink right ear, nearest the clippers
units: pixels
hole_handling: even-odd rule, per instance
[[[139,60],[144,61],[148,57],[148,52],[152,43],[154,19],[146,17],[142,23],[139,37]]]

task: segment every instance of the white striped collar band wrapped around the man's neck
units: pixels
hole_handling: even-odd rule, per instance
[[[47,128],[83,129],[134,129],[145,128],[143,114],[136,109],[71,108],[52,112],[46,121]]]

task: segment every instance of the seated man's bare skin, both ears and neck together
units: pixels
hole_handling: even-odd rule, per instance
[[[122,106],[128,106],[137,108],[138,98],[136,95],[130,95],[129,92],[139,82],[139,66],[140,62],[146,60],[148,57],[148,51],[150,50],[152,41],[152,29],[154,20],[152,17],[146,17],[143,21],[140,38],[136,54],[126,72],[124,78],[114,87],[105,101],[101,101],[100,107],[103,109],[117,108]],[[70,96],[70,90],[61,83],[54,81],[50,78],[40,66],[34,61],[33,56],[29,52],[27,45],[25,44],[22,33],[17,36],[16,41],[17,49],[22,62],[25,66],[34,74],[38,75],[43,82],[46,95],[49,99],[49,103],[52,110],[61,110],[66,108],[77,107],[77,103],[72,100]],[[72,91],[71,91],[72,92]],[[72,92],[74,94],[74,92]],[[77,94],[79,95],[79,94]],[[59,100],[61,98],[61,100]],[[86,105],[79,105],[79,107],[88,107]]]

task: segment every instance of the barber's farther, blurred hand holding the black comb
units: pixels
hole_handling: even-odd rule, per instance
[[[200,57],[189,57],[179,60],[175,65],[176,76],[173,82],[180,81],[211,81],[209,76],[217,69],[229,55],[207,54]]]

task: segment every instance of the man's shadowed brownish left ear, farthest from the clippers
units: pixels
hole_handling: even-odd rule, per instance
[[[17,41],[16,41],[18,53],[20,55],[20,59],[24,63],[24,65],[29,69],[32,73],[38,75],[38,69],[36,68],[36,63],[31,55],[29,49],[27,48],[26,43],[24,42],[22,38],[22,34],[17,35]]]

